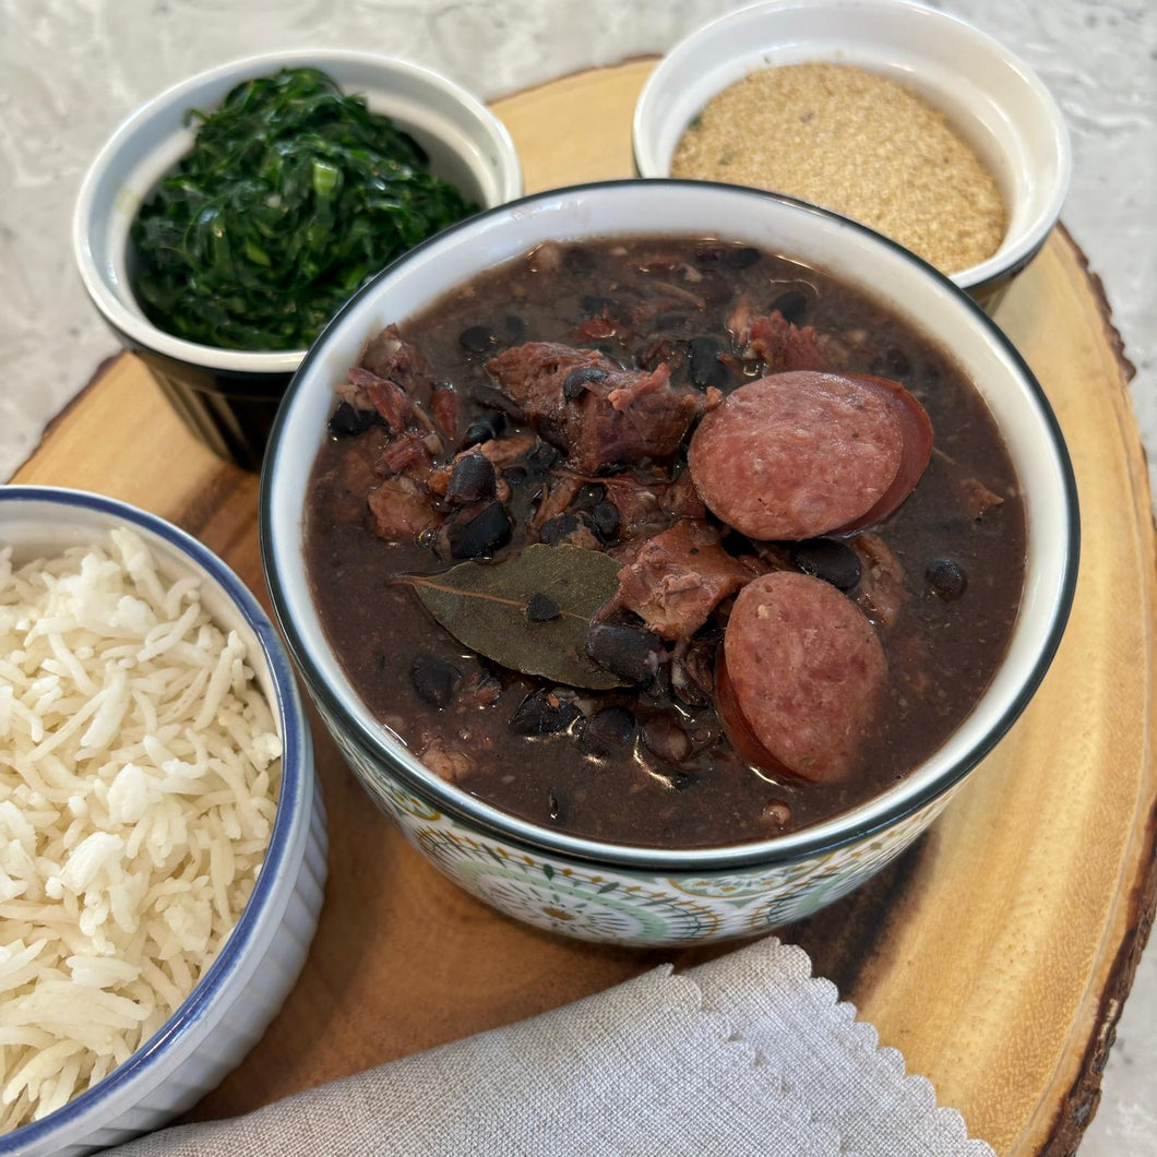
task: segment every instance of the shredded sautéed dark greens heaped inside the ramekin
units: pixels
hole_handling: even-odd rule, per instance
[[[316,68],[245,81],[193,120],[132,228],[141,307],[191,341],[304,348],[367,277],[477,208]]]

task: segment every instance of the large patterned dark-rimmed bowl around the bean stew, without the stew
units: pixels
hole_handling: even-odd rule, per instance
[[[902,782],[778,839],[694,850],[631,847],[561,834],[482,803],[423,767],[377,722],[314,606],[302,541],[309,477],[334,386],[366,342],[541,242],[616,235],[743,242],[865,290],[951,351],[998,423],[1023,487],[1024,599],[988,691]],[[275,612],[366,789],[423,855],[476,896],[543,928],[628,944],[750,935],[815,912],[898,855],[1032,695],[1068,614],[1077,543],[1073,474],[1053,413],[1016,349],[972,299],[907,250],[843,218],[703,182],[628,180],[539,193],[415,249],[362,289],[310,351],[278,415],[261,479],[261,552]]]

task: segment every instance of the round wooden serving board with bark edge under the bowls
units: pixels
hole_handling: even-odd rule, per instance
[[[502,101],[530,190],[632,171],[646,61]],[[1060,231],[997,315],[1056,407],[1084,525],[1076,605],[1044,686],[963,795],[856,894],[782,930],[1002,1154],[1068,1154],[1099,1097],[1157,898],[1154,524],[1104,295]],[[185,432],[121,355],[50,427],[20,481],[179,523],[263,598],[257,479]],[[596,948],[484,907],[368,805],[315,720],[330,885],[305,971],[196,1115],[221,1117],[540,1012],[665,953]],[[713,950],[713,955],[725,951]],[[708,953],[684,952],[678,963]]]

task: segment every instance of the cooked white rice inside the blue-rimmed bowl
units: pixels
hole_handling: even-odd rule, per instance
[[[0,551],[0,1133],[126,1060],[216,958],[280,756],[243,642],[138,535]]]

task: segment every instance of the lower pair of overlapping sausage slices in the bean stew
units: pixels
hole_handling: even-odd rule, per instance
[[[749,761],[820,783],[847,779],[886,685],[876,632],[830,583],[781,570],[739,592],[716,687],[728,737]]]

